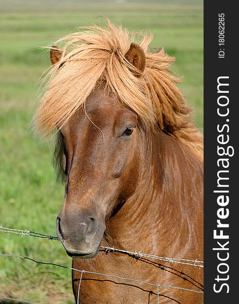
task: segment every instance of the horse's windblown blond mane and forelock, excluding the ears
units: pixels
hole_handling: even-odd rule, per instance
[[[94,88],[104,83],[143,124],[160,128],[203,160],[203,137],[190,122],[191,110],[176,86],[179,80],[169,70],[174,58],[164,49],[150,53],[151,40],[152,35],[129,34],[108,19],[104,26],[79,27],[58,40],[63,53],[47,75],[45,94],[34,117],[36,130],[48,135],[61,128],[80,106],[85,106]],[[135,68],[125,58],[131,42],[145,52],[140,78],[135,77]]]

